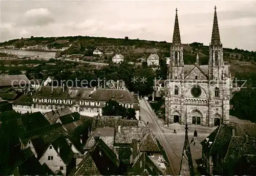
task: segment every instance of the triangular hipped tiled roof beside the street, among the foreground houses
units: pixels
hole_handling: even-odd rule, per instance
[[[153,136],[153,133],[150,129],[147,128],[146,134],[140,140],[139,151],[152,151],[152,152],[160,152],[157,141]]]

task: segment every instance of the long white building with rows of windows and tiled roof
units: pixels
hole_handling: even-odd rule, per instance
[[[40,90],[32,95],[32,112],[47,113],[52,110],[69,107],[72,112],[82,116],[97,116],[102,114],[102,107],[108,100],[115,100],[126,108],[134,108],[136,119],[139,119],[139,103],[129,90],[100,89],[82,87],[52,87],[41,86]],[[23,108],[23,102],[15,102],[16,106]],[[20,110],[19,110],[20,111]],[[24,111],[28,111],[24,108]]]

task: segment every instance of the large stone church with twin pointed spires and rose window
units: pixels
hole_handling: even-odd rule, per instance
[[[218,126],[229,123],[231,74],[223,61],[217,12],[209,44],[208,65],[184,65],[178,13],[176,9],[173,42],[165,85],[165,124]]]

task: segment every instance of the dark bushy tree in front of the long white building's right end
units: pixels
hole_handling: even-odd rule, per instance
[[[109,100],[106,105],[102,108],[103,116],[122,116],[122,118],[127,117],[126,108],[119,105],[117,101]]]

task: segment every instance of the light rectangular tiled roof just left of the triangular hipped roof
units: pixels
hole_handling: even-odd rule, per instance
[[[115,144],[132,144],[133,139],[140,140],[145,135],[146,127],[121,126],[120,133],[118,126],[115,127]],[[115,145],[114,144],[114,145]]]

